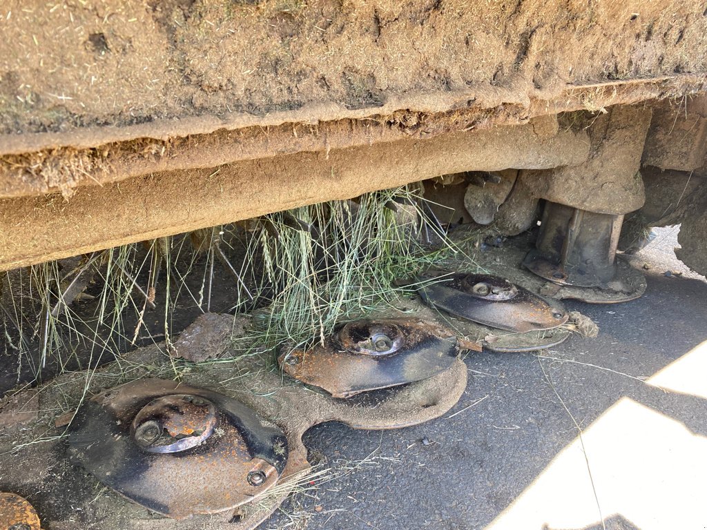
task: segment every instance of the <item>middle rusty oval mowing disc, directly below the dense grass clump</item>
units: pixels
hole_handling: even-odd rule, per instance
[[[334,397],[428,379],[457,358],[457,338],[419,319],[351,322],[323,344],[280,355],[291,377],[325,389]]]

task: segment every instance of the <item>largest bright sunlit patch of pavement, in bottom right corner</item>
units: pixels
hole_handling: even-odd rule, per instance
[[[703,529],[707,438],[621,398],[487,526]]]

